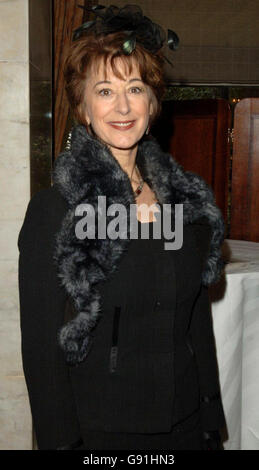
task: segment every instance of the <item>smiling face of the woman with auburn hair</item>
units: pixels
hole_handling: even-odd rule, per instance
[[[105,142],[116,156],[116,149],[127,150],[136,146],[148,126],[153,112],[151,93],[143,83],[138,67],[125,75],[118,58],[116,66],[124,79],[116,77],[107,62],[92,72],[86,80],[85,116],[95,134]]]

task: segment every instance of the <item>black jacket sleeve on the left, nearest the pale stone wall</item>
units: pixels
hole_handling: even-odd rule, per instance
[[[73,447],[81,437],[69,370],[57,343],[66,294],[52,261],[63,211],[53,195],[50,188],[31,199],[18,237],[22,362],[39,449]]]

